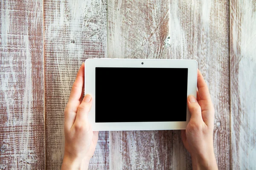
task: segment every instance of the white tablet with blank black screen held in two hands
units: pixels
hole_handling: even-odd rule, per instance
[[[187,97],[197,90],[195,60],[87,59],[84,76],[93,130],[186,129]]]

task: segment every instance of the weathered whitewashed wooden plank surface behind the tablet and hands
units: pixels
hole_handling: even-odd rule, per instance
[[[0,0],[0,169],[60,169],[87,58],[196,59],[218,167],[256,169],[255,0]],[[89,169],[192,169],[180,130],[100,132]]]

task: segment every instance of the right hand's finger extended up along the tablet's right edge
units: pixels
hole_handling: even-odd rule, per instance
[[[198,78],[197,78],[198,94],[201,100],[210,100],[210,93],[207,87],[204,77],[198,69]]]

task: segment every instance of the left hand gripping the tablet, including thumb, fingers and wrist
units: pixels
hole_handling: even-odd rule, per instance
[[[92,130],[87,115],[92,96],[84,94],[84,63],[81,65],[64,111],[65,152],[62,170],[88,169],[98,141],[98,131]]]

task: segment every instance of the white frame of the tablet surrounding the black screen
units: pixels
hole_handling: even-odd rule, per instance
[[[143,64],[142,64],[143,62]],[[187,96],[196,97],[197,62],[190,59],[86,59],[84,67],[84,93],[93,96],[93,105],[88,114],[89,122],[94,131],[109,130],[177,130],[186,129],[190,119],[187,107],[186,122],[95,122],[95,68],[188,68]],[[171,78],[171,77],[170,77]],[[175,96],[174,96],[175,97]],[[106,113],[110,114],[110,113]]]

